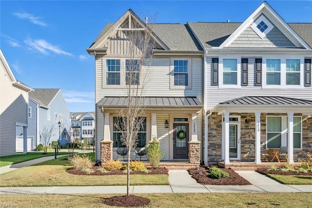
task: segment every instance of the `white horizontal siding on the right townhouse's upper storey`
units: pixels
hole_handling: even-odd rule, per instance
[[[254,58],[248,58],[248,86],[241,86],[241,88],[218,88],[218,86],[211,85],[211,70],[212,58],[207,58],[207,109],[215,105],[243,96],[282,96],[296,99],[312,99],[312,87],[304,87],[298,89],[268,89],[261,86],[254,86]],[[219,76],[221,72],[219,71]],[[241,76],[238,74],[237,76]]]

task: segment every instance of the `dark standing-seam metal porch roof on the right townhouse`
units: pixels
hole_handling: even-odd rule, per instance
[[[280,96],[244,96],[217,104],[211,111],[218,112],[268,112],[312,113],[312,100]]]

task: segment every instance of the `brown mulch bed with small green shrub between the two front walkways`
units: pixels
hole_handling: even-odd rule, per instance
[[[232,169],[220,168],[223,171],[229,173],[229,178],[210,178],[210,173],[205,167],[198,167],[188,169],[189,174],[197,181],[199,184],[203,185],[251,185],[246,179],[238,175]]]

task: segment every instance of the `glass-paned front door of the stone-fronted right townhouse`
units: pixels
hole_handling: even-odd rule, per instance
[[[229,153],[231,160],[240,159],[240,139],[238,137],[238,125],[229,126]]]

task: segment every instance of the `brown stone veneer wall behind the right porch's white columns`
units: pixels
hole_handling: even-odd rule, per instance
[[[230,113],[241,117],[240,159],[242,162],[255,161],[255,114],[254,113]],[[267,116],[287,116],[280,113],[262,113],[260,116],[261,138],[260,144],[266,143],[266,118]],[[302,149],[293,150],[293,159],[307,160],[308,152],[312,153],[312,115],[294,114],[302,116]],[[249,127],[245,127],[245,119],[248,119]],[[208,118],[208,163],[216,164],[222,158],[222,116],[213,113]]]

